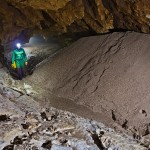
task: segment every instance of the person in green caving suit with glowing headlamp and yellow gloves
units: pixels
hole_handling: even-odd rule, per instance
[[[28,64],[25,50],[21,48],[21,44],[16,44],[16,49],[12,52],[12,67],[17,69],[19,80],[24,76],[24,67]]]

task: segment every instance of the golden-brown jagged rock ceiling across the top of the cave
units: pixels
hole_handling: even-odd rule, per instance
[[[149,33],[149,0],[0,0],[0,37],[33,33],[106,33],[119,28]]]

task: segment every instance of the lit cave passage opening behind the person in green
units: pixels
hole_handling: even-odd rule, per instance
[[[41,35],[34,35],[30,37],[29,42],[22,44],[28,57],[28,65],[25,68],[25,74],[31,75],[35,68],[41,64],[45,59],[53,57],[61,48],[60,42],[55,37],[44,37]],[[9,50],[5,57],[7,59],[7,68],[14,79],[18,78],[17,71],[11,67],[12,49]]]

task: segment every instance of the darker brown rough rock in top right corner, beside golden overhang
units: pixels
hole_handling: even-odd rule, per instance
[[[114,28],[150,33],[149,0],[103,0],[113,15]]]

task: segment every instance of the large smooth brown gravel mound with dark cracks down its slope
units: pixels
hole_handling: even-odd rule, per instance
[[[27,81],[105,114],[109,125],[149,141],[149,41],[150,35],[135,32],[85,37],[38,67]]]

